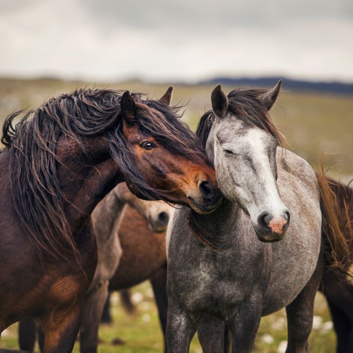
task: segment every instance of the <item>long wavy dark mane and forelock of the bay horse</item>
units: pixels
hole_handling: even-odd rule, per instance
[[[147,199],[166,197],[149,187],[133,162],[123,135],[120,100],[123,91],[79,89],[51,98],[40,108],[27,112],[16,127],[9,115],[3,126],[2,142],[10,152],[10,183],[21,226],[38,250],[61,257],[76,251],[75,239],[64,211],[66,196],[57,175],[62,163],[56,154],[59,138],[75,140],[82,151],[87,137],[106,137],[110,155],[138,192]],[[152,135],[163,146],[196,160],[203,153],[195,135],[179,118],[178,107],[133,93],[136,121],[142,134]],[[170,201],[170,200],[168,200]]]

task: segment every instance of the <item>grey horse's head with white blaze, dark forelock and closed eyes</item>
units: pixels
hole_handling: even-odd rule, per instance
[[[211,96],[215,119],[206,150],[218,186],[250,216],[263,242],[281,240],[290,218],[276,182],[276,151],[282,138],[268,114],[280,86],[281,81],[270,90],[233,90],[226,96],[218,85]]]

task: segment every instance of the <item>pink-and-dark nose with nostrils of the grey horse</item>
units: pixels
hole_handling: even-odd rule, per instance
[[[290,213],[288,210],[281,214],[273,215],[269,212],[262,212],[257,218],[257,224],[264,234],[273,234],[274,237],[284,237],[289,226]]]

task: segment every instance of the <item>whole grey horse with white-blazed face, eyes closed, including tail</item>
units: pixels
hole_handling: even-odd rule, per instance
[[[197,134],[223,202],[210,215],[181,207],[169,221],[169,353],[187,352],[198,325],[204,351],[222,351],[219,319],[232,333],[232,351],[250,352],[261,316],[283,307],[287,352],[307,351],[322,276],[322,218],[331,259],[348,261],[344,224],[327,222],[340,219],[327,185],[304,159],[278,147],[283,139],[268,110],[280,85],[228,95],[218,85],[200,120]]]

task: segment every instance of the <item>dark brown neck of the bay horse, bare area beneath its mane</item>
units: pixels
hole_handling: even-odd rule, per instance
[[[74,230],[79,230],[103,197],[124,181],[119,165],[102,141],[91,148],[96,149],[89,162],[80,149],[67,148],[58,153],[62,161],[58,165],[58,177],[66,198],[65,213]]]

